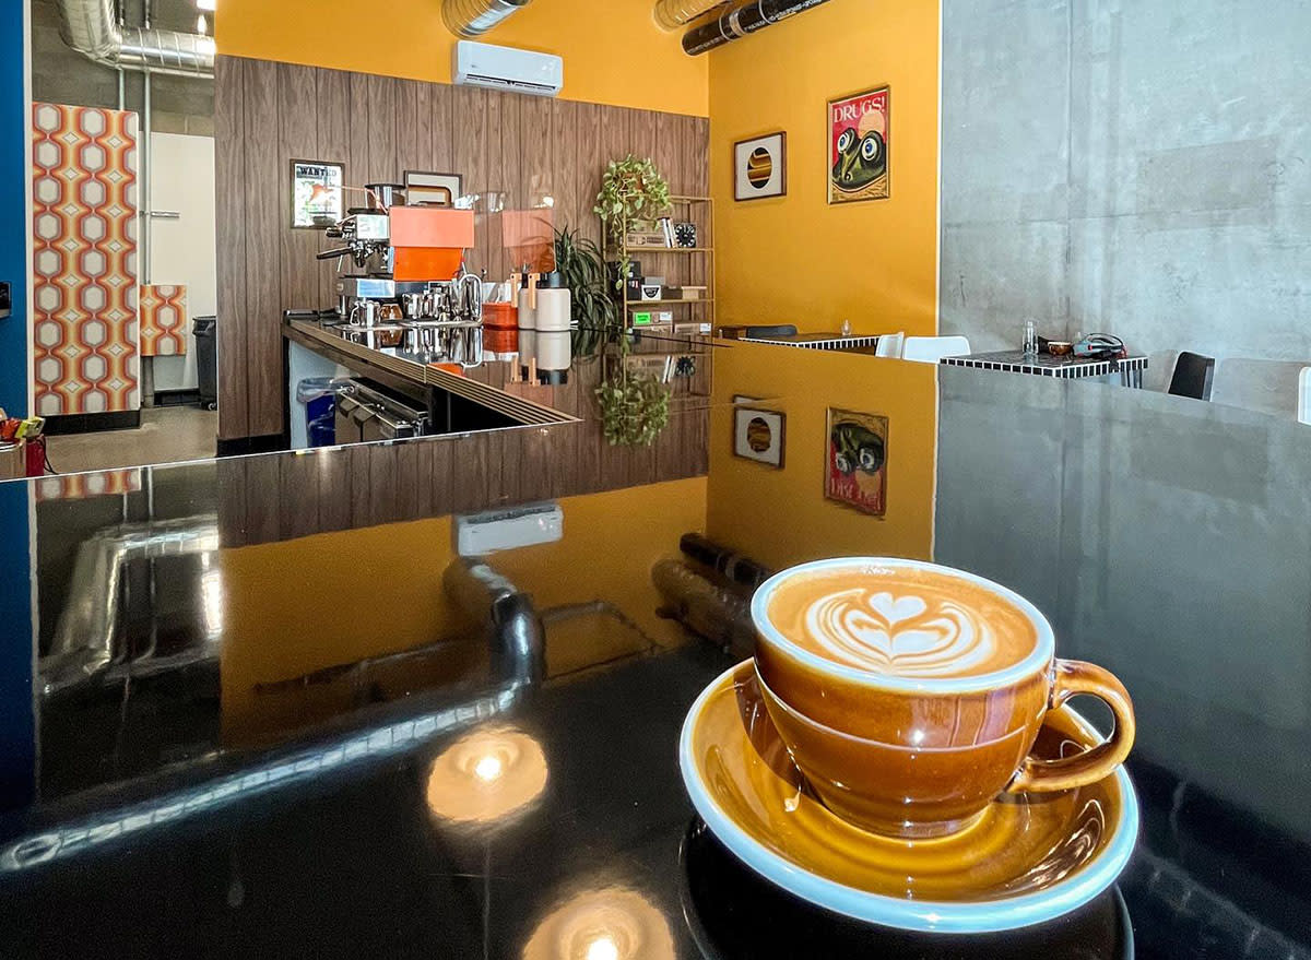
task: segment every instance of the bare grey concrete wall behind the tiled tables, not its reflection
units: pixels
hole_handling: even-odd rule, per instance
[[[1108,330],[1289,413],[1311,363],[1311,4],[943,0],[941,329]]]

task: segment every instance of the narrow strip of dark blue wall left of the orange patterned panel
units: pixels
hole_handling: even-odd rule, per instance
[[[0,0],[0,281],[13,289],[13,315],[0,320],[0,407],[28,412],[28,214],[24,144],[22,0]]]

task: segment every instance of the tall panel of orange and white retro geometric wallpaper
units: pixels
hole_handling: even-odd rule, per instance
[[[31,113],[37,413],[135,410],[136,114]]]

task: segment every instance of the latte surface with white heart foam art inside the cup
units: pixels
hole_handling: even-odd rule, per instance
[[[1038,641],[1012,603],[927,569],[793,576],[770,595],[766,615],[801,649],[886,677],[979,677],[1021,662]]]

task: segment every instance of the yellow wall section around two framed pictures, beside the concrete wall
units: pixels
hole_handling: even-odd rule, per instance
[[[937,0],[830,0],[711,54],[721,324],[936,332]],[[891,85],[891,198],[829,206],[827,102]],[[788,134],[788,195],[733,201],[733,143]]]

